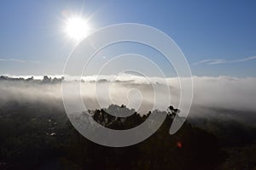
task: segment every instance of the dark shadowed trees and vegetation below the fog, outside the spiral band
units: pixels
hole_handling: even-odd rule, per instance
[[[122,105],[121,107],[125,107]],[[118,105],[111,105],[114,110]],[[173,108],[171,108],[173,109]],[[127,108],[127,110],[129,110]],[[132,110],[129,110],[132,111]],[[168,133],[170,111],[154,135],[140,144],[111,148],[81,136],[63,109],[9,102],[0,109],[0,169],[253,169],[255,144],[223,147],[218,136],[185,122]],[[106,111],[90,111],[97,122],[114,129],[136,127],[148,115],[134,113],[124,120]],[[231,153],[231,154],[230,154]],[[239,159],[241,156],[244,159]],[[253,157],[254,156],[254,157]],[[236,162],[234,162],[236,161]],[[239,164],[236,164],[239,163]],[[239,167],[240,166],[240,167]],[[235,168],[237,167],[237,168]]]

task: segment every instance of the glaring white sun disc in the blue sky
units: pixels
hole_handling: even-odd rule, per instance
[[[81,17],[70,17],[67,19],[65,31],[68,37],[79,41],[89,35],[90,26],[87,20]]]

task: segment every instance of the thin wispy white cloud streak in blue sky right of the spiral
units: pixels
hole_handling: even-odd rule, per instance
[[[256,59],[256,56],[253,57],[247,57],[243,59],[234,59],[234,60],[226,60],[226,59],[203,59],[201,61],[197,61],[193,63],[193,65],[219,65],[219,64],[226,64],[226,63],[239,63],[239,62],[245,62],[248,60]]]

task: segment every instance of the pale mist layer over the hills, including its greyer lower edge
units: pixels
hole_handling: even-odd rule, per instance
[[[75,80],[76,78],[77,80]],[[165,81],[171,92],[171,105],[177,107],[179,102],[178,79],[150,77],[152,82],[147,82],[143,77],[124,75],[114,79],[114,76],[83,77],[81,92],[84,105],[89,110],[106,108],[108,105],[126,105],[135,109],[141,115],[153,111],[154,89],[150,83],[161,86]],[[64,77],[48,77],[41,79],[33,77],[0,77],[0,106],[15,103],[16,105],[45,105],[59,111],[64,111],[61,94],[61,82],[73,83],[79,77],[64,80]],[[256,127],[256,90],[252,84],[256,78],[235,77],[194,77],[194,100],[189,111],[189,122],[207,128],[208,122],[225,124],[237,123],[239,126]],[[255,82],[255,83],[254,83]],[[110,90],[112,101],[106,95],[98,93],[96,86]],[[141,94],[129,94],[129,90],[137,88]],[[127,95],[128,94],[128,95]],[[162,96],[166,94],[160,94]],[[97,97],[97,98],[96,98]],[[72,98],[72,95],[71,95]],[[100,99],[101,103],[97,99]],[[111,103],[111,102],[115,103]],[[186,102],[186,101],[185,101]],[[164,102],[163,102],[164,103]],[[168,105],[158,105],[156,109],[166,111]],[[182,108],[179,108],[182,110]],[[218,129],[216,130],[216,132]]]

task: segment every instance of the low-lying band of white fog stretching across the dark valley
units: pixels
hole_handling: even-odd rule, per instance
[[[81,82],[81,94],[87,109],[107,107],[110,104],[127,105],[145,113],[157,108],[166,111],[168,103],[177,107],[180,85],[177,77],[149,77],[154,85],[145,78],[125,75],[115,79],[111,76],[84,77]],[[186,79],[186,78],[185,78]],[[194,98],[189,116],[218,116],[216,111],[241,112],[242,117],[255,118],[256,78],[236,77],[193,77]],[[166,100],[166,91],[154,91],[164,88],[165,82],[170,89],[171,100]],[[73,82],[68,82],[73,83]],[[153,88],[154,87],[154,88]],[[157,94],[154,94],[157,93]],[[73,91],[70,91],[72,99]],[[157,101],[154,101],[157,95]],[[0,104],[9,101],[20,103],[42,102],[47,105],[62,105],[61,82],[43,83],[36,81],[0,81]],[[188,102],[184,99],[183,102]],[[155,107],[153,105],[157,103]],[[179,108],[182,110],[182,108]],[[250,113],[247,114],[246,113]],[[211,114],[211,115],[209,115]],[[237,115],[236,115],[237,116]],[[235,117],[235,115],[234,115]]]

